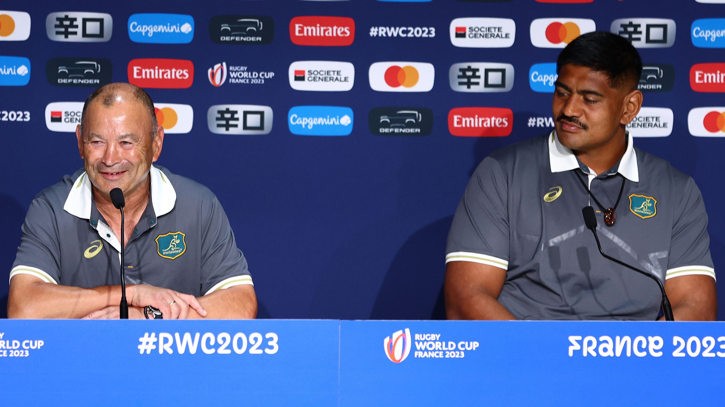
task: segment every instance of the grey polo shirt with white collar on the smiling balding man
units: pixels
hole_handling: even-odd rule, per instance
[[[203,185],[152,166],[151,198],[125,247],[129,284],[194,296],[252,285],[221,204]],[[96,209],[91,181],[79,170],[30,203],[10,272],[91,288],[120,284],[120,243]]]

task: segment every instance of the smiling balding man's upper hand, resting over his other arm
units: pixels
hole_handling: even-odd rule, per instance
[[[177,293],[167,288],[158,288],[153,285],[129,285],[126,289],[129,306],[152,306],[159,309],[164,319],[186,319],[189,307],[196,310],[201,316],[207,316],[202,304],[194,295]],[[117,307],[116,307],[117,308]],[[141,313],[143,316],[143,311]],[[130,317],[130,307],[129,307]]]

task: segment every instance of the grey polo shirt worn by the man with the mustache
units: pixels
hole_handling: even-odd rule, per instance
[[[494,151],[474,172],[453,217],[449,261],[507,270],[498,301],[518,319],[653,320],[660,290],[650,278],[603,258],[581,209],[589,194],[614,206],[617,221],[597,232],[605,253],[664,280],[715,278],[708,216],[691,177],[633,146],[596,175],[550,135]]]

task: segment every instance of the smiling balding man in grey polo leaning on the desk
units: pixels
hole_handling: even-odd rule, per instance
[[[9,318],[254,318],[244,255],[214,194],[157,161],[164,129],[128,83],[88,96],[75,130],[84,169],[33,199],[10,272]],[[109,192],[125,196],[120,211]]]

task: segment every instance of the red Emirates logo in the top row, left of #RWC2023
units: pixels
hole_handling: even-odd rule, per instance
[[[350,17],[308,15],[289,22],[292,43],[308,46],[348,46],[355,41],[355,20]]]

